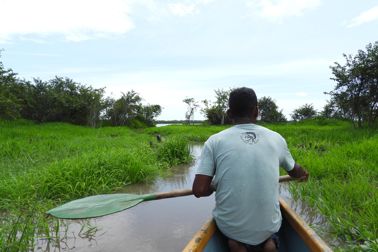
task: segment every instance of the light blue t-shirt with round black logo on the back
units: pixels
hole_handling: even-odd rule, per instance
[[[196,175],[215,175],[213,216],[224,235],[257,245],[280,229],[280,166],[294,167],[287,144],[262,126],[232,126],[205,142]]]

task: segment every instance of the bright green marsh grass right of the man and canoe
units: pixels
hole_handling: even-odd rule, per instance
[[[292,183],[290,191],[327,218],[327,232],[345,243],[335,250],[378,251],[377,131],[337,121],[267,127],[285,137],[293,158],[310,172],[308,183]]]

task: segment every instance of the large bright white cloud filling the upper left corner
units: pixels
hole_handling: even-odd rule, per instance
[[[131,1],[3,0],[0,1],[0,40],[15,35],[82,41],[119,36],[134,28],[127,16]]]

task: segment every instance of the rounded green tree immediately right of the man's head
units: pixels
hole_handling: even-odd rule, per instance
[[[282,111],[282,109],[278,111],[276,100],[272,99],[270,96],[261,97],[258,99],[257,121],[259,123],[285,123],[287,122],[287,119]]]

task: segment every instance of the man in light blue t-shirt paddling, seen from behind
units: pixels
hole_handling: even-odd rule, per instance
[[[193,193],[198,198],[216,191],[213,216],[231,252],[247,252],[247,244],[276,252],[282,220],[279,167],[293,178],[306,176],[298,182],[307,181],[309,172],[295,163],[280,134],[255,125],[258,106],[252,89],[231,92],[227,116],[233,126],[205,142]]]

